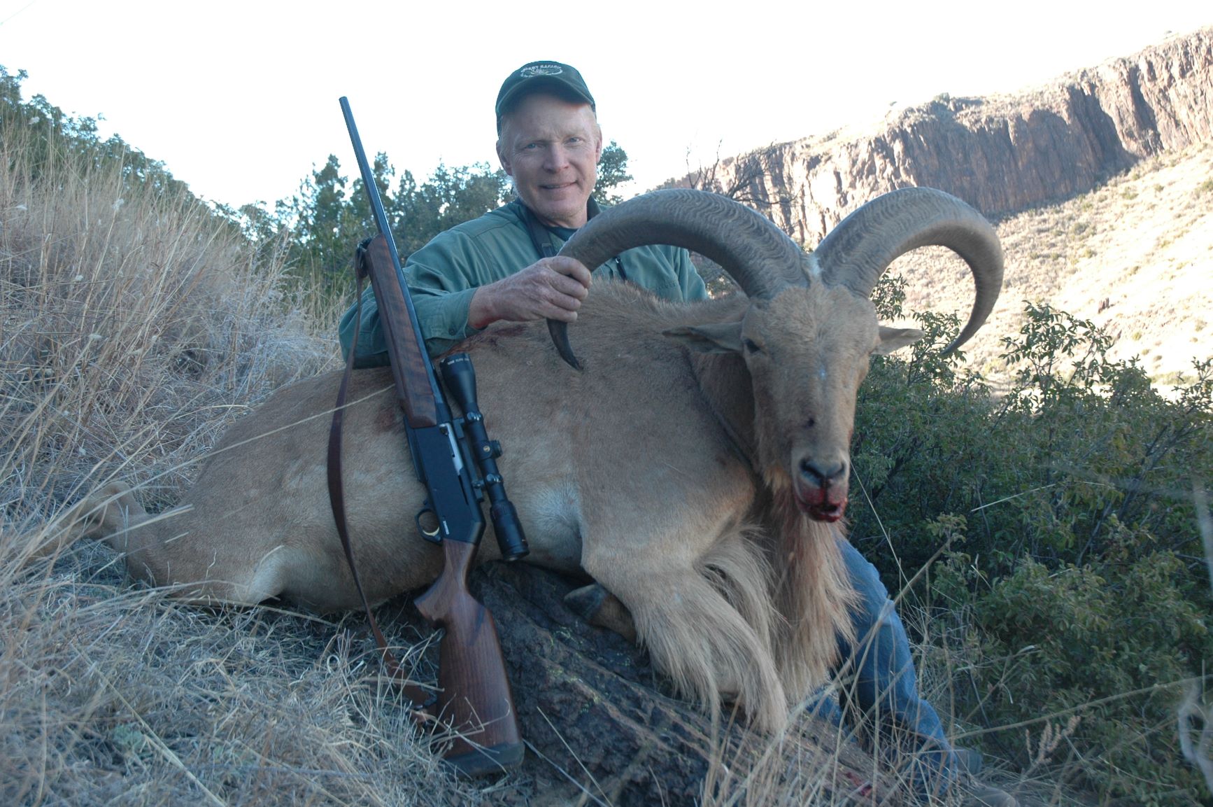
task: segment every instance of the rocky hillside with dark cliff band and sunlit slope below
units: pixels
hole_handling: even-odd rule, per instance
[[[1007,282],[970,346],[998,374],[1024,300],[1106,325],[1156,381],[1213,354],[1213,28],[1012,96],[950,98],[722,160],[671,182],[728,193],[813,245],[860,204],[935,187],[1000,221]],[[963,265],[919,254],[907,307],[958,311]],[[952,283],[951,280],[956,280]]]

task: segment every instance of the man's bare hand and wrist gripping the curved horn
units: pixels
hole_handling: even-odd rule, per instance
[[[590,269],[563,255],[545,257],[522,272],[483,285],[472,295],[467,323],[484,328],[499,319],[529,322],[556,319],[571,323],[590,294]]]

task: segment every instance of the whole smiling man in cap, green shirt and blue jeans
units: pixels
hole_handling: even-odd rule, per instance
[[[557,256],[560,244],[597,214],[591,199],[602,155],[593,96],[581,74],[557,62],[533,62],[506,79],[497,95],[497,158],[518,198],[460,225],[409,256],[404,272],[426,347],[438,354],[499,320],[551,318],[575,322],[592,278],[614,277],[672,300],[702,300],[702,279],[683,249],[643,246],[591,272]],[[354,309],[342,318],[349,351]],[[358,366],[386,364],[374,294],[363,301]],[[959,761],[935,710],[918,695],[910,644],[876,569],[843,542],[852,582],[861,596],[855,612],[860,646],[839,642],[844,671],[855,675],[853,700],[916,738],[912,777],[923,794],[940,792],[959,777]],[[972,805],[1013,807],[1001,790],[974,785]]]

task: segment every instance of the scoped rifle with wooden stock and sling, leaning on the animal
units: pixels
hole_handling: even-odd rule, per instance
[[[471,358],[466,353],[456,353],[442,363],[443,377],[463,413],[462,417],[451,416],[438,386],[404,282],[383,203],[358,137],[349,102],[344,97],[341,98],[341,110],[378,229],[378,235],[359,246],[358,296],[360,301],[361,278],[364,273],[369,274],[387,341],[397,398],[404,410],[409,450],[417,478],[428,490],[428,499],[416,516],[417,529],[427,540],[440,544],[444,555],[442,575],[415,601],[422,616],[434,626],[445,629],[438,650],[438,706],[439,720],[454,729],[454,740],[444,758],[467,775],[494,773],[520,762],[524,746],[497,641],[496,623],[492,614],[467,589],[467,575],[484,534],[480,502],[485,493],[491,500],[490,513],[502,557],[513,561],[526,555],[526,538],[513,504],[506,498],[496,467],[495,458],[501,455],[501,447],[488,438],[484,428]],[[357,317],[360,322],[360,311]],[[353,364],[355,348],[357,342],[351,347],[349,366]],[[334,433],[337,436],[330,434],[330,496],[335,502],[334,516],[338,533],[342,534],[346,559],[357,582],[358,573],[346,536],[343,506],[338,512],[340,414],[344,388],[343,381],[334,415]],[[338,458],[336,474],[332,471],[335,454]],[[479,474],[474,473],[474,468],[479,470]],[[361,593],[361,584],[358,586]],[[363,602],[366,604],[365,595]],[[399,665],[387,652],[386,641],[370,615],[369,606],[368,615],[393,677],[403,677]],[[416,687],[411,692],[406,688],[406,694],[420,706],[417,693],[420,689]]]

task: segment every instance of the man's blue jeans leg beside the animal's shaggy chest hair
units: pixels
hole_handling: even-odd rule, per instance
[[[859,593],[852,612],[856,647],[838,637],[843,697],[858,707],[876,731],[892,727],[909,735],[913,754],[909,772],[919,794],[939,794],[956,780],[959,762],[944,734],[934,707],[918,694],[918,676],[910,657],[910,640],[876,567],[849,541],[839,541],[850,582]],[[835,704],[821,704],[819,714],[841,723]]]

